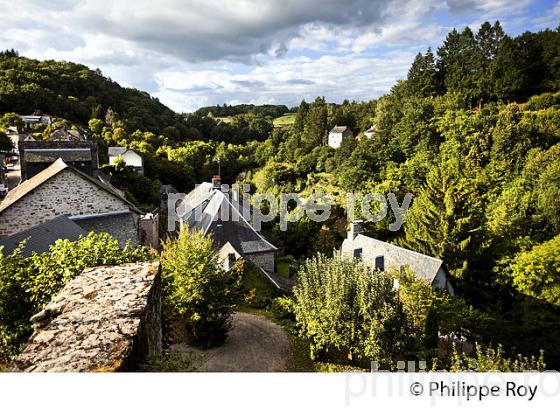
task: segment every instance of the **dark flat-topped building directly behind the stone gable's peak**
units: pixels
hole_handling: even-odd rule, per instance
[[[93,141],[20,141],[19,156],[22,181],[37,175],[59,158],[92,177],[96,177],[99,169],[97,143]]]

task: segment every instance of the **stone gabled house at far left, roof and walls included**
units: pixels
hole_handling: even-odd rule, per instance
[[[66,215],[87,232],[137,244],[140,214],[112,185],[58,159],[0,202],[0,239]]]

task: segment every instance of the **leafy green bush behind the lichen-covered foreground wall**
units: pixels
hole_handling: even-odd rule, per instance
[[[0,358],[15,353],[31,331],[31,316],[85,268],[151,259],[145,248],[121,248],[110,235],[90,233],[75,242],[58,240],[48,252],[0,255]]]

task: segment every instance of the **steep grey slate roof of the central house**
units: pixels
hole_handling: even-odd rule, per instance
[[[213,189],[210,183],[198,185],[185,197],[179,208],[184,211],[187,207],[185,223],[191,229],[211,233],[218,247],[229,242],[242,255],[278,250],[251,226],[228,195]],[[223,213],[228,215],[224,218],[227,220],[222,220]]]

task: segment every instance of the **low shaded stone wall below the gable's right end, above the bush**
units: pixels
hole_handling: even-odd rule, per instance
[[[72,221],[86,232],[108,233],[124,247],[127,241],[131,246],[139,244],[138,230],[130,211],[109,212],[90,216],[73,216]]]

